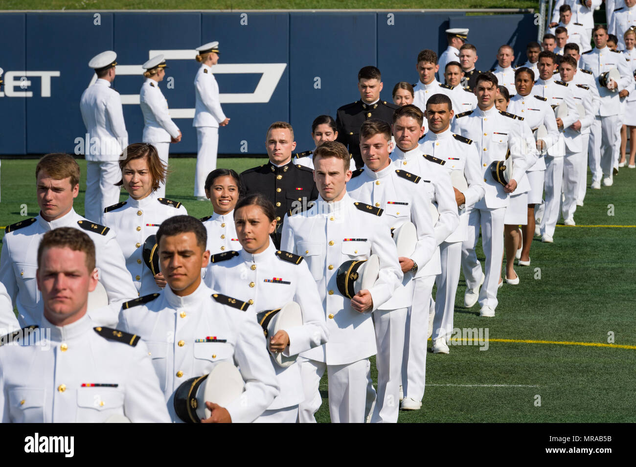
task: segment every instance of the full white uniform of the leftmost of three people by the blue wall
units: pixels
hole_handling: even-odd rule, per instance
[[[88,86],[79,101],[90,148],[86,158],[86,219],[99,219],[106,206],[119,201],[119,157],[128,146],[121,98],[106,79]]]

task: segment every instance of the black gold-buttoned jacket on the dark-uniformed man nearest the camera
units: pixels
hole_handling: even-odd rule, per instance
[[[276,208],[276,230],[272,241],[280,248],[282,219],[290,210],[305,210],[307,203],[318,198],[314,182],[314,171],[305,166],[289,162],[277,167],[268,162],[252,167],[240,174],[241,196],[262,193]]]

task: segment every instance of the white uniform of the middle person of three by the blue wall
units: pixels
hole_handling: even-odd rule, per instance
[[[159,83],[146,78],[139,91],[139,105],[144,114],[144,132],[141,140],[156,147],[161,161],[168,165],[170,137],[179,137],[179,127],[172,121],[168,112],[168,101],[163,97]],[[159,184],[157,194],[165,197],[165,183]]]

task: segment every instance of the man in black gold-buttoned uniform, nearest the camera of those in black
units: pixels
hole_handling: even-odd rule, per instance
[[[296,149],[294,129],[285,121],[276,121],[267,130],[265,140],[270,161],[240,174],[241,195],[262,193],[276,206],[276,230],[272,240],[280,248],[282,219],[290,210],[307,209],[309,201],[318,198],[314,171],[291,162]]]

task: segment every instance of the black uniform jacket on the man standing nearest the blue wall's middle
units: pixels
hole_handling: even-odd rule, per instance
[[[386,100],[378,100],[371,105],[356,100],[353,104],[343,105],[338,109],[336,115],[337,140],[349,148],[357,168],[364,165],[360,154],[360,127],[371,118],[377,118],[393,125],[393,112],[396,109],[397,105],[390,104]]]

